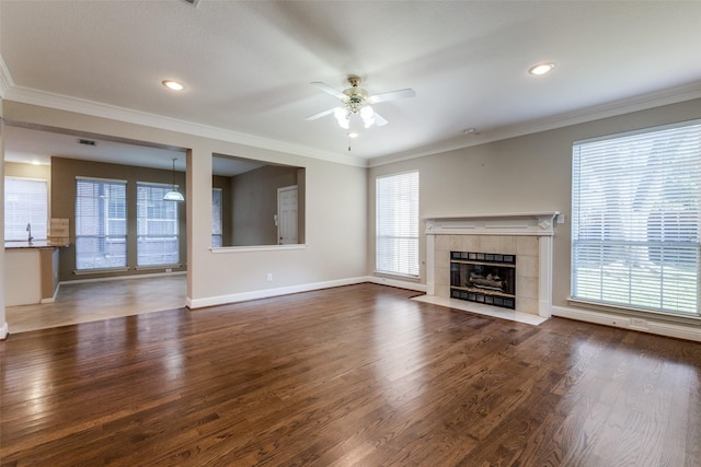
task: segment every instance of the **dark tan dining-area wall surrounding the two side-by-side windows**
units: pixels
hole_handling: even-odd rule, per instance
[[[106,178],[127,182],[127,267],[128,271],[84,273],[80,276],[76,270],[76,177]],[[157,168],[134,167],[130,165],[105,164],[101,162],[80,161],[76,159],[51,157],[51,217],[68,219],[70,232],[70,245],[60,248],[59,256],[59,280],[67,282],[78,279],[95,279],[113,276],[138,276],[143,273],[163,272],[164,268],[137,269],[137,182],[151,182],[159,184],[171,184],[173,182],[172,171],[161,171]],[[185,174],[175,173],[175,184],[179,190],[186,196]],[[173,271],[185,270],[187,268],[186,248],[186,218],[185,203],[179,203],[180,222],[180,268],[172,268]]]

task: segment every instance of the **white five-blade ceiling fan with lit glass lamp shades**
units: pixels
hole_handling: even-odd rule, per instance
[[[348,83],[350,84],[350,87],[343,91],[336,91],[329,84],[322,83],[321,81],[312,82],[312,85],[336,97],[343,103],[343,105],[330,108],[329,110],[320,112],[319,114],[312,115],[311,117],[307,117],[307,120],[315,120],[318,118],[333,114],[333,116],[336,118],[336,121],[338,122],[338,126],[347,130],[350,124],[350,116],[354,114],[359,114],[365,128],[369,128],[372,125],[381,127],[387,125],[387,120],[382,118],[381,115],[376,113],[370,104],[394,101],[398,98],[414,97],[416,95],[416,93],[412,89],[368,95],[368,92],[366,90],[359,87],[360,78],[354,74],[348,77]]]

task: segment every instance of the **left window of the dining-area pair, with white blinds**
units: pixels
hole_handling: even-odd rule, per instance
[[[76,269],[127,266],[127,183],[76,179]]]

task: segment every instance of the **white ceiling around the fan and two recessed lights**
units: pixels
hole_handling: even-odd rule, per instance
[[[372,164],[700,97],[701,2],[0,0],[0,58],[8,101]],[[553,72],[528,74],[543,61]],[[348,74],[370,94],[416,92],[377,104],[389,125],[350,152],[332,116],[306,120],[337,103],[309,83],[343,90]],[[33,131],[8,129],[7,160],[32,152]]]

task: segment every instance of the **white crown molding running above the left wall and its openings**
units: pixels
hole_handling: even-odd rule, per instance
[[[124,121],[127,124],[141,125],[162,130],[192,135],[196,137],[227,141],[257,149],[265,149],[287,154],[318,159],[336,164],[367,167],[367,161],[357,156],[345,154],[340,155],[300,144],[281,142],[223,128],[211,127],[208,125],[164,117],[161,115],[149,114],[146,112],[134,110],[130,108],[102,104],[94,101],[66,96],[28,87],[10,85],[4,92],[4,96],[2,98],[5,101],[13,101],[22,104],[37,105],[41,107],[90,115],[92,117],[106,118],[111,120]]]

